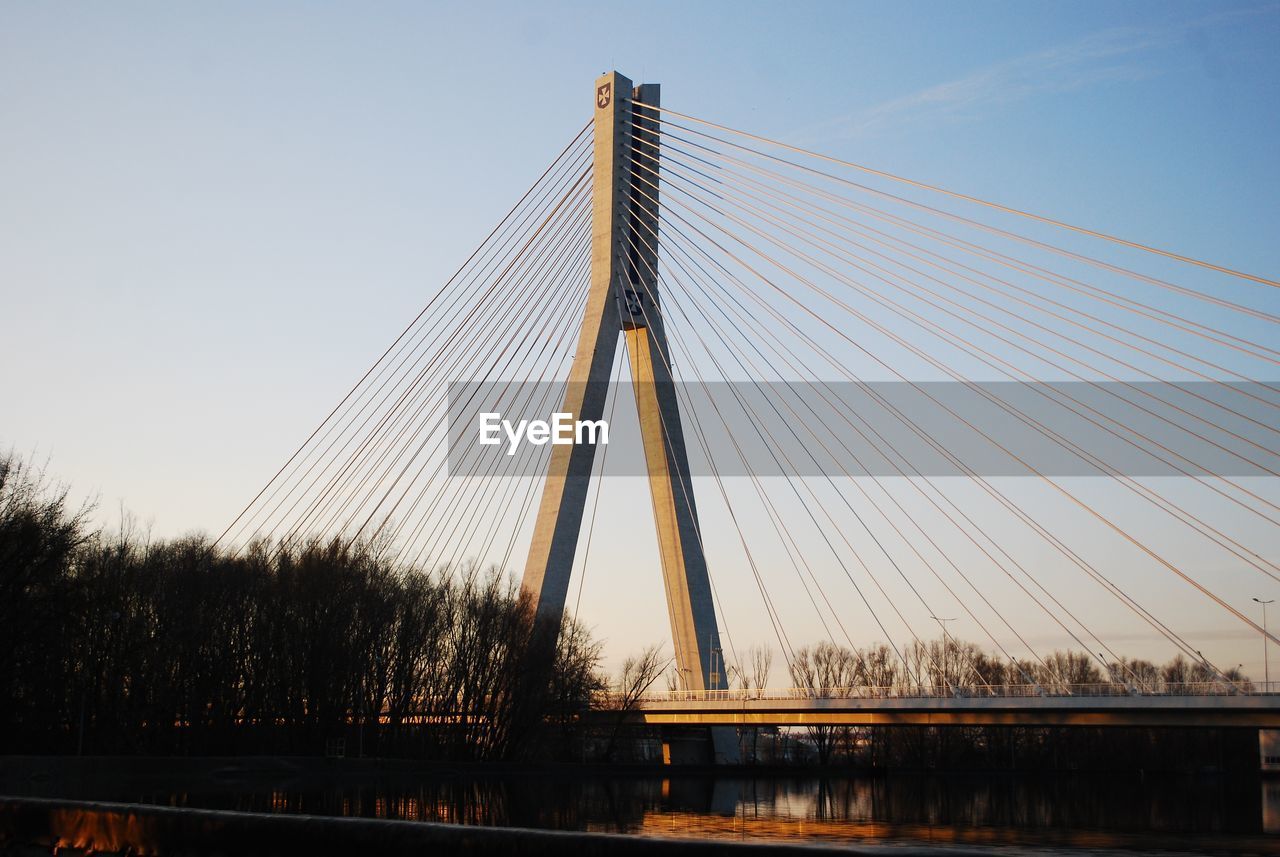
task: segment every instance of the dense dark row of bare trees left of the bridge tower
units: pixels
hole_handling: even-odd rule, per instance
[[[554,646],[553,656],[548,656]],[[104,535],[0,459],[0,748],[511,759],[600,688],[599,646],[535,638],[515,583],[378,544]]]

